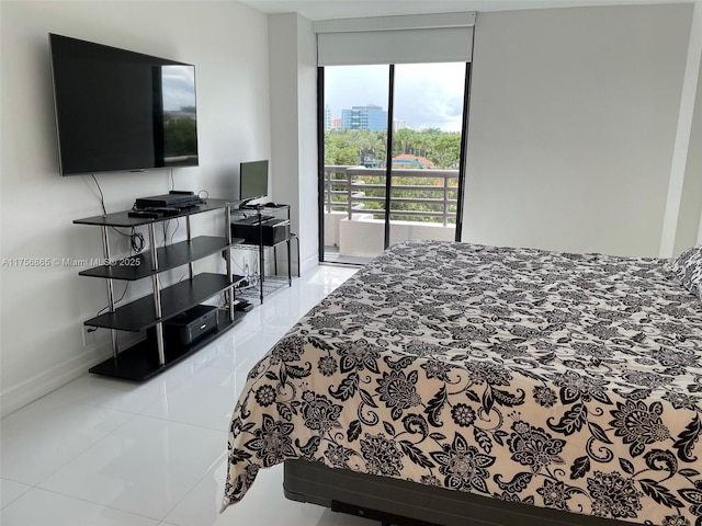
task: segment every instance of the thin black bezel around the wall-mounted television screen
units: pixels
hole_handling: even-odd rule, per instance
[[[166,157],[163,157],[163,164],[159,164],[158,162],[152,162],[152,163],[125,163],[124,165],[121,167],[110,167],[109,164],[105,164],[105,167],[103,168],[99,168],[95,170],[82,170],[82,169],[67,169],[65,167],[65,162],[64,162],[64,150],[63,150],[63,145],[61,145],[61,124],[59,123],[59,105],[60,105],[60,101],[57,98],[57,84],[56,84],[56,65],[55,65],[55,46],[54,46],[54,39],[66,39],[66,41],[71,41],[75,44],[79,44],[79,45],[86,45],[89,46],[93,49],[103,49],[105,53],[117,53],[121,54],[125,57],[133,57],[133,59],[136,60],[147,60],[147,61],[151,61],[155,65],[160,65],[160,66],[186,66],[192,68],[193,70],[193,96],[194,96],[194,101],[195,101],[195,116],[197,115],[197,98],[196,98],[196,80],[195,80],[195,75],[196,75],[196,68],[193,64],[189,64],[189,62],[182,62],[179,60],[172,60],[172,59],[168,59],[168,58],[163,58],[163,57],[159,57],[156,55],[149,55],[149,54],[145,54],[145,53],[139,53],[139,52],[135,52],[135,50],[131,50],[131,49],[126,49],[126,48],[122,48],[122,47],[115,47],[115,46],[109,46],[105,44],[100,44],[97,42],[91,42],[91,41],[86,41],[82,38],[76,38],[76,37],[71,37],[71,36],[66,36],[66,35],[60,35],[57,33],[49,33],[48,34],[48,44],[49,44],[49,62],[50,62],[50,73],[52,73],[52,91],[53,91],[53,102],[54,102],[54,122],[55,122],[55,126],[56,126],[56,138],[57,138],[57,146],[58,146],[58,167],[59,167],[59,174],[61,176],[73,176],[73,175],[90,175],[90,174],[98,174],[98,173],[125,173],[125,172],[146,172],[149,170],[158,170],[158,169],[172,169],[172,168],[192,168],[192,167],[199,167],[200,165],[200,144],[199,144],[199,137],[197,137],[197,119],[195,117],[195,153],[194,155],[190,155],[190,156],[179,156],[179,157],[183,157],[183,162],[171,162],[171,163],[166,163]],[[64,132],[67,133],[67,132]],[[176,158],[177,159],[177,158]]]

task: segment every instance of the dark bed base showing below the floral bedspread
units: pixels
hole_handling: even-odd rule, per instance
[[[398,526],[631,526],[634,523],[500,501],[416,482],[285,460],[283,491],[309,502]]]

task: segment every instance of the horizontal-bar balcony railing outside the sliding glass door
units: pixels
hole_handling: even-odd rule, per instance
[[[385,169],[325,167],[325,210],[385,218]],[[457,170],[393,169],[390,220],[455,224]],[[411,180],[417,184],[409,184]],[[421,181],[423,180],[423,182]],[[427,183],[431,180],[431,184]]]

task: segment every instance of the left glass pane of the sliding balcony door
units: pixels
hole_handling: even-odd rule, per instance
[[[325,261],[384,249],[389,66],[325,68]]]

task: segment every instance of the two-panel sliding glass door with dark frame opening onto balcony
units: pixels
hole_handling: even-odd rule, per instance
[[[320,261],[460,237],[468,75],[466,62],[319,68]]]

